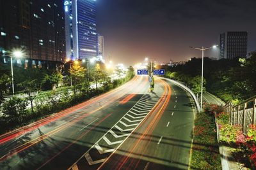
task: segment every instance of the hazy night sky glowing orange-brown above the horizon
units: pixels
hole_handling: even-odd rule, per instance
[[[225,31],[248,31],[256,50],[256,0],[97,0],[97,30],[105,56],[126,66],[188,60],[201,55],[189,46],[219,44]],[[218,49],[205,53],[218,57]]]

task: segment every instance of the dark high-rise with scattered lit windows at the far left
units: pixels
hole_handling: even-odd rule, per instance
[[[0,55],[20,49],[24,67],[52,67],[65,59],[65,20],[62,0],[0,1]]]

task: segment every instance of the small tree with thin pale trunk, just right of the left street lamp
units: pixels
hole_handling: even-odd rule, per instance
[[[33,101],[35,97],[38,95],[38,92],[40,90],[40,85],[36,83],[36,80],[26,80],[23,83],[19,83],[18,85],[22,90],[24,94],[28,96],[28,100],[31,104],[31,111],[34,113],[33,110]]]

